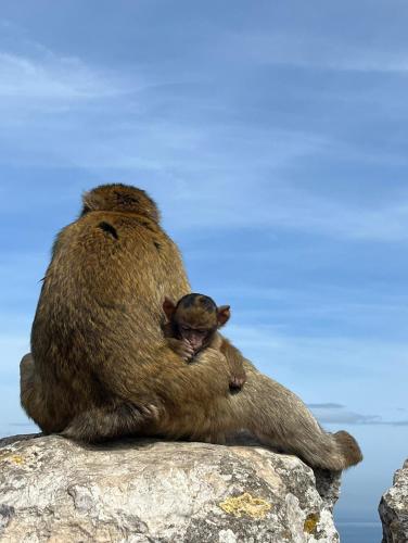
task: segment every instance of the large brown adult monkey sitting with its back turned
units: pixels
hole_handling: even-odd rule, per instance
[[[95,442],[126,434],[222,442],[246,429],[311,466],[339,470],[360,450],[326,433],[303,402],[245,361],[247,381],[229,392],[230,368],[214,350],[186,364],[162,332],[165,296],[191,292],[177,247],[142,190],[106,185],[84,197],[80,217],[53,247],[21,364],[22,404],[47,432]]]

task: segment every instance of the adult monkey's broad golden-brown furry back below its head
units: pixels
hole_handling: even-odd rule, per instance
[[[31,330],[58,428],[111,394],[127,397],[137,379],[149,393],[144,367],[150,379],[160,372],[163,300],[189,291],[176,245],[153,220],[92,212],[60,232]]]

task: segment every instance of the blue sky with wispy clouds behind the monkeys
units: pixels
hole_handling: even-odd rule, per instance
[[[226,334],[366,460],[375,520],[408,443],[408,4],[3,1],[1,434],[56,231],[101,182],[146,189]]]

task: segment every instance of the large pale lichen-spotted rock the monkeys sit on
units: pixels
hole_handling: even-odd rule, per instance
[[[1,542],[337,542],[340,476],[260,446],[0,440]]]

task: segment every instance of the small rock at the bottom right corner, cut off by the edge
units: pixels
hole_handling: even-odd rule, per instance
[[[408,542],[408,459],[394,475],[393,487],[383,494],[379,513],[383,543]]]

